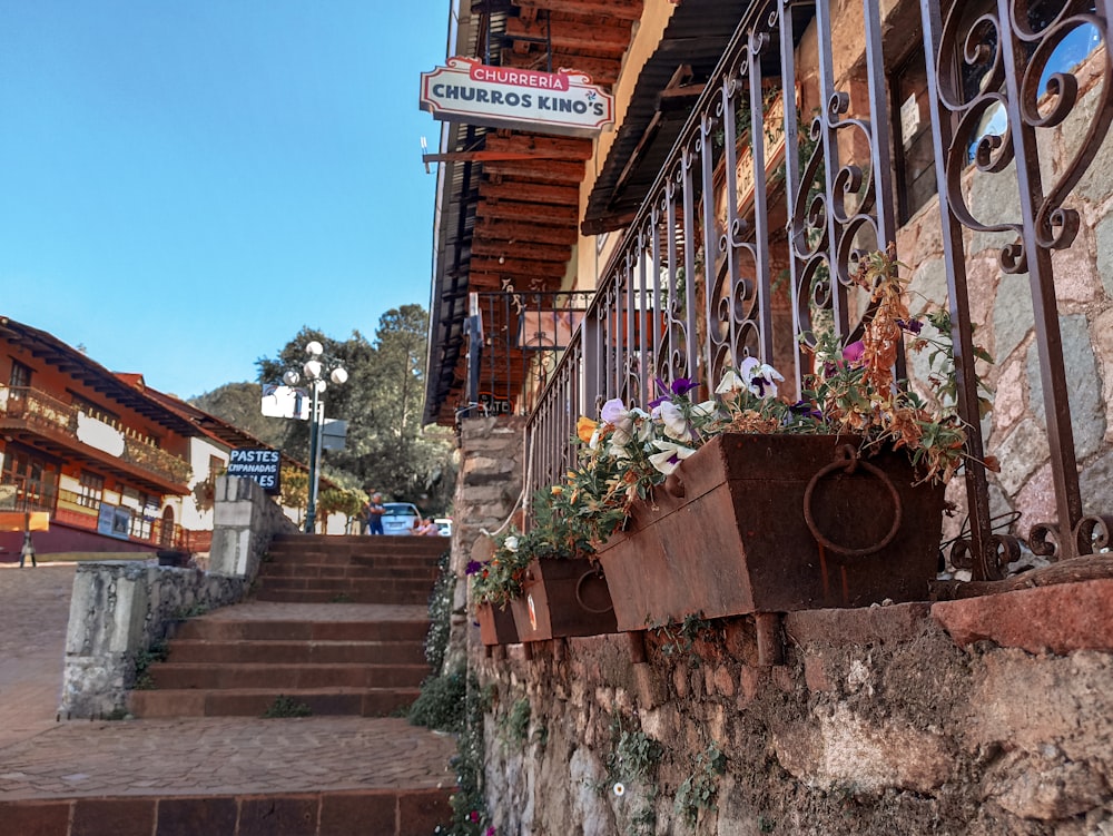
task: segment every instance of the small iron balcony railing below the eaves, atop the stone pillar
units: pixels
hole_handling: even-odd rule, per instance
[[[472,294],[470,414],[525,415],[591,302],[591,291]]]

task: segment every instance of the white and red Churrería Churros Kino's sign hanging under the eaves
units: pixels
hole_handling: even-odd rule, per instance
[[[421,73],[421,109],[434,119],[592,136],[614,122],[614,97],[582,72],[536,72],[450,58]]]

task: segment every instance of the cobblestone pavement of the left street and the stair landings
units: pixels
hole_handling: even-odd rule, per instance
[[[0,569],[0,800],[453,785],[453,738],[401,718],[58,722],[73,571]],[[299,609],[245,603],[210,617],[308,614]],[[313,609],[346,620],[368,608]],[[378,617],[414,617],[413,607],[374,609]]]

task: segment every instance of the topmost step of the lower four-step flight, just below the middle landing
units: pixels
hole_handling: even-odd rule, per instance
[[[342,604],[337,604],[342,607]],[[298,620],[194,618],[176,633],[179,639],[207,641],[418,641],[429,633],[427,619]]]

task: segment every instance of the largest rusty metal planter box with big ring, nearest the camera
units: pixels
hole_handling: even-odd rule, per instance
[[[858,443],[750,434],[708,442],[652,501],[636,503],[598,553],[618,629],[926,599],[943,485],[914,484],[905,451],[847,472]]]

